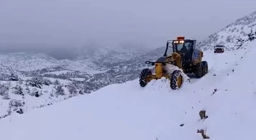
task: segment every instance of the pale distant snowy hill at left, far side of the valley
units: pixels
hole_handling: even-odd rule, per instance
[[[69,59],[57,60],[42,53],[0,53],[0,63],[3,66],[11,67],[20,71],[33,71],[43,68],[69,69],[81,72],[90,72],[92,74],[107,70],[102,65],[95,64],[90,59],[73,61]],[[91,74],[91,72],[89,73]]]

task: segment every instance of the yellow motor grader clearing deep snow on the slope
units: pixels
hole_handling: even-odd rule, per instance
[[[167,40],[166,48],[162,57],[156,61],[145,61],[146,64],[155,66],[153,74],[149,68],[142,69],[139,75],[139,84],[141,87],[152,79],[166,77],[170,80],[171,89],[179,89],[184,78],[183,73],[194,73],[196,78],[201,78],[208,72],[207,61],[202,61],[203,52],[195,50],[196,40],[185,39],[184,36],[178,36],[175,40]],[[168,48],[172,48],[172,52]],[[168,54],[167,54],[168,53]],[[171,73],[164,68],[171,64],[178,68]]]

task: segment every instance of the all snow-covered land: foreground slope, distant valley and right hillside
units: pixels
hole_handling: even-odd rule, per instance
[[[171,90],[165,78],[139,86],[139,72],[149,66],[144,61],[161,56],[164,47],[138,53],[107,50],[79,60],[0,53],[1,137],[251,139],[255,34],[256,11],[198,42],[208,73],[179,90]],[[213,53],[216,44],[226,51]]]

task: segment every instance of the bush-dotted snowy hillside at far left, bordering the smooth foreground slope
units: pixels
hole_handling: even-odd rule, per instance
[[[15,79],[15,78],[12,78]],[[19,81],[0,81],[0,118],[89,93],[81,83],[63,79],[21,77]]]

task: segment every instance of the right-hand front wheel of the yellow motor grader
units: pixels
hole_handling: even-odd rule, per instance
[[[178,78],[180,78],[179,81]],[[179,82],[180,83],[179,83]],[[181,71],[180,70],[174,70],[171,74],[170,74],[170,88],[177,90],[182,86],[183,83],[183,77],[181,75]]]

